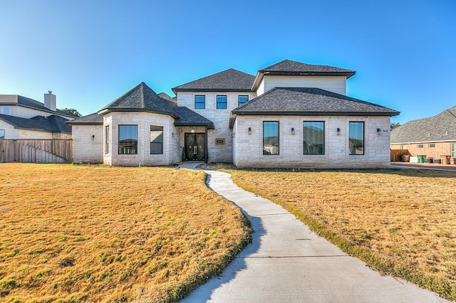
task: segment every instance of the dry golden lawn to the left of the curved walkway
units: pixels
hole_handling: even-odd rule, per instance
[[[0,164],[0,301],[175,301],[248,243],[202,172]]]

